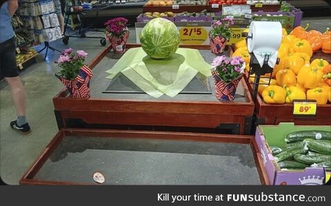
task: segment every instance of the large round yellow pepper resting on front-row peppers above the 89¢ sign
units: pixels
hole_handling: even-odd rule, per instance
[[[312,67],[311,65],[304,65],[297,76],[298,83],[307,89],[317,87],[321,82],[323,73],[319,68]]]

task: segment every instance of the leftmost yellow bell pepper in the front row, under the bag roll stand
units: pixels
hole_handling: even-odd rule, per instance
[[[286,92],[283,87],[269,85],[262,92],[263,101],[270,104],[285,103]]]

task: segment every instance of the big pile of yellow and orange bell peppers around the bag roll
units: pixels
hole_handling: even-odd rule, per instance
[[[269,82],[270,85],[259,85],[259,94],[265,103],[292,103],[293,99],[314,99],[317,104],[331,103],[331,66],[325,59],[311,59],[312,54],[331,52],[331,32],[324,33],[317,30],[306,31],[301,26],[294,28],[290,34],[283,29],[283,40],[279,47],[279,64],[270,74],[262,76],[260,83]],[[318,42],[317,42],[318,41]],[[242,56],[249,64],[250,54],[245,40],[235,45],[232,56]],[[249,67],[246,67],[249,70]],[[254,82],[254,77],[250,78]]]

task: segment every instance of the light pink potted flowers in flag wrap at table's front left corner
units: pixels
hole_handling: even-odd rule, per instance
[[[88,53],[83,50],[74,52],[72,48],[65,50],[57,60],[62,68],[60,74],[54,74],[67,87],[74,98],[90,98],[90,79],[92,70],[84,65]]]

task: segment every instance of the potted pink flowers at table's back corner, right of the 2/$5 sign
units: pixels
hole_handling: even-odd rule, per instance
[[[230,27],[233,24],[233,20],[228,17],[212,23],[212,29],[209,32],[210,52],[221,54],[224,51],[225,45],[230,39],[232,32]]]

